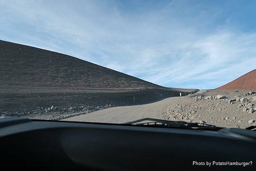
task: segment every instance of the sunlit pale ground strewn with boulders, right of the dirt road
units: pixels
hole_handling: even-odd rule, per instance
[[[256,125],[256,91],[207,90],[170,105],[167,120],[201,122],[228,128]]]

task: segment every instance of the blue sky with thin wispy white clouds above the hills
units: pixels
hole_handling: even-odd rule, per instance
[[[165,87],[212,89],[256,69],[255,0],[0,0],[0,40]]]

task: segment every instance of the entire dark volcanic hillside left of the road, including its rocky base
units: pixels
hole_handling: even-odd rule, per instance
[[[0,41],[0,116],[11,111],[15,116],[37,118],[37,113],[48,116],[49,107],[55,106],[57,113],[49,116],[62,117],[63,113],[145,104],[179,96],[179,92],[188,90],[161,87],[72,56]]]

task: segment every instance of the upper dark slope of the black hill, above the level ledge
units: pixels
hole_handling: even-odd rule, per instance
[[[6,41],[0,41],[0,86],[163,88],[72,56]]]

